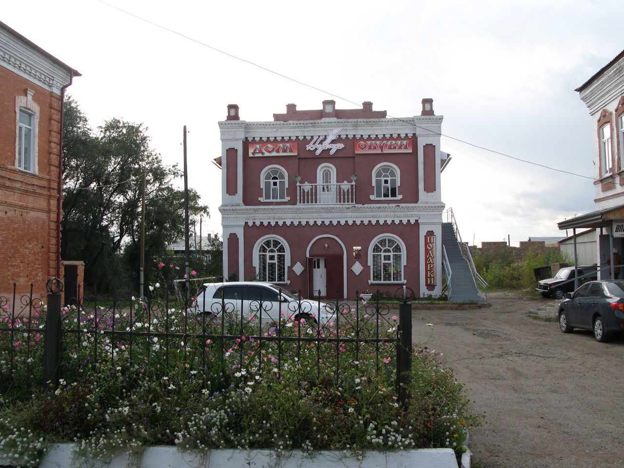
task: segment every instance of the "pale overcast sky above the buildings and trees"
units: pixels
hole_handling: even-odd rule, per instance
[[[221,232],[211,160],[228,104],[248,121],[324,99],[410,117],[432,98],[452,155],[442,201],[463,240],[565,236],[557,222],[594,209],[595,128],[574,89],[624,49],[624,3],[433,3],[30,0],[3,2],[0,21],[82,74],[68,93],[92,127],[143,122],[182,167],[187,125],[203,233]]]

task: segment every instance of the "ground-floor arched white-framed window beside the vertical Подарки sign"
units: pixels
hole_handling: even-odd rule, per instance
[[[394,234],[380,234],[368,246],[370,284],[405,284],[406,245]]]

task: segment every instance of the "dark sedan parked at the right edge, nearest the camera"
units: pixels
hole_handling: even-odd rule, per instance
[[[590,281],[565,298],[559,305],[563,333],[582,328],[607,341],[611,334],[624,332],[624,281]]]

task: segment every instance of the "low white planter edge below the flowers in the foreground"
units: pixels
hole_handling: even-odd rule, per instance
[[[77,468],[72,459],[74,444],[56,444],[49,449],[39,468]],[[470,452],[462,457],[461,468],[470,468]],[[11,466],[0,457],[0,464]],[[8,463],[7,463],[8,462]],[[110,463],[93,461],[92,468],[126,468],[129,457],[122,454]],[[192,452],[180,452],[176,447],[150,447],[145,449],[140,468],[335,468],[336,462],[344,468],[457,468],[455,453],[451,449],[419,449],[399,452],[365,452],[358,460],[348,452],[318,452],[314,459],[307,459],[300,451],[278,459],[268,450],[212,450],[200,457]],[[2,465],[0,465],[2,466]]]

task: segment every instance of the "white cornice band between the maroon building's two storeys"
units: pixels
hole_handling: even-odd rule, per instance
[[[444,203],[417,205],[220,206],[223,228],[233,226],[399,225],[440,223]]]

